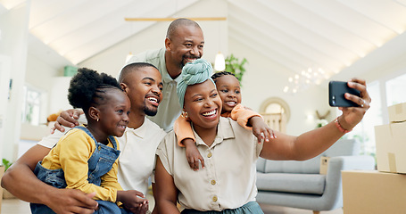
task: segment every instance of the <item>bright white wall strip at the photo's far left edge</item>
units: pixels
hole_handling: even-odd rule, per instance
[[[10,24],[12,23],[12,25]],[[21,133],[21,103],[28,50],[29,1],[0,15],[0,54],[10,58],[9,77],[12,90],[4,113],[4,136],[0,139],[3,157],[13,160],[17,156]],[[6,72],[7,72],[6,71]],[[3,76],[3,75],[2,75]]]

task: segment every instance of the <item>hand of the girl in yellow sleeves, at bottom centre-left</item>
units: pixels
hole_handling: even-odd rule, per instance
[[[122,202],[123,206],[133,213],[148,210],[148,200],[137,190],[117,191],[117,201]]]

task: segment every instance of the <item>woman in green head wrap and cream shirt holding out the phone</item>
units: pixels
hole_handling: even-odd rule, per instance
[[[182,213],[263,213],[255,200],[256,161],[260,156],[304,161],[327,150],[344,135],[333,121],[301,136],[275,131],[276,138],[258,144],[251,131],[232,119],[220,118],[221,101],[210,78],[211,70],[204,60],[188,63],[178,83],[179,103],[191,120],[205,168],[191,169],[175,133],[165,136],[156,151],[153,193],[158,213],[179,213],[177,202],[185,208]],[[354,79],[351,86],[370,102],[364,81]],[[353,128],[368,107],[344,109],[340,125]]]

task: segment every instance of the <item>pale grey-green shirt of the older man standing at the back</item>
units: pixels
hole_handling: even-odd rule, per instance
[[[153,117],[147,117],[163,128],[163,130],[169,132],[173,129],[173,123],[178,119],[180,111],[182,111],[176,90],[178,81],[180,81],[180,75],[175,79],[170,77],[168,70],[166,70],[165,48],[163,47],[157,50],[138,53],[132,56],[127,64],[132,62],[148,62],[160,70],[163,83],[162,101],[158,106],[158,113]]]

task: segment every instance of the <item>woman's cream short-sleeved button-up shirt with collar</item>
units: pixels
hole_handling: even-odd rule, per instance
[[[177,185],[179,203],[186,209],[225,210],[255,201],[256,161],[262,144],[257,143],[252,131],[232,119],[220,118],[218,134],[210,147],[195,136],[204,169],[190,169],[185,148],[178,146],[174,132],[165,136],[156,151]]]

